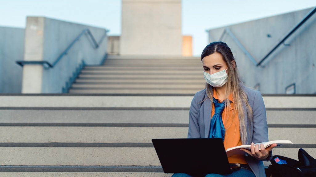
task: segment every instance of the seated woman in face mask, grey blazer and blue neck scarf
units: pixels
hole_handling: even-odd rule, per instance
[[[213,42],[205,47],[201,60],[206,88],[195,94],[190,107],[188,138],[222,138],[225,149],[238,145],[251,145],[246,155],[228,157],[228,162],[240,165],[232,174],[211,176],[265,177],[262,161],[272,158],[273,144],[266,149],[261,144],[268,141],[265,106],[259,91],[246,87],[239,78],[234,56],[223,42]],[[259,150],[261,149],[261,150]],[[190,176],[173,174],[173,177]]]

